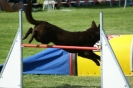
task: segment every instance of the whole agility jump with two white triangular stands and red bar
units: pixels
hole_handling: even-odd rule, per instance
[[[9,52],[9,55],[6,59],[5,65],[0,75],[0,87],[22,88],[22,75],[23,75],[22,67],[23,66],[22,66],[21,46],[26,47],[28,46],[28,44],[26,45],[21,44],[21,39],[22,39],[21,38],[21,31],[22,31],[22,19],[21,19],[22,14],[21,13],[22,11],[20,11],[20,16],[19,16],[20,25],[19,25],[18,33],[16,34],[13,45],[11,47],[11,50]],[[102,46],[102,48],[100,49],[101,51],[101,87],[102,88],[130,88],[126,80],[126,77],[124,76],[121,70],[121,67],[119,66],[119,63],[106,38],[106,35],[103,31],[102,23],[103,23],[102,13],[100,13],[100,25],[101,25],[100,26],[100,41],[101,41],[101,46]],[[41,45],[39,45],[39,47],[40,46]],[[44,45],[44,46],[47,47],[48,45]],[[38,47],[38,45],[33,45],[32,47]],[[91,48],[99,50],[94,47],[91,47]],[[18,55],[16,55],[16,52]],[[14,58],[17,58],[15,62],[14,62]],[[14,73],[16,74],[10,73],[9,72],[10,68],[14,68]]]

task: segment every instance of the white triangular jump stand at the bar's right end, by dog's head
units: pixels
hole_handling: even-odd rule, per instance
[[[103,30],[102,12],[100,13],[100,41],[101,88],[130,88]]]

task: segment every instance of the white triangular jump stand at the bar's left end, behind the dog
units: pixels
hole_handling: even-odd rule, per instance
[[[22,88],[22,10],[19,28],[0,74],[0,88]]]

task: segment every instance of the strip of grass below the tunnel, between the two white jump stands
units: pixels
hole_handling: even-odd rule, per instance
[[[38,88],[100,88],[100,77],[25,75],[24,81],[24,88],[36,83],[39,85]]]

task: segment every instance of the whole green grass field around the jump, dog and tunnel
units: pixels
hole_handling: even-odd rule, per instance
[[[71,11],[67,11],[71,10]],[[104,30],[107,34],[133,34],[133,6],[87,6],[61,8],[60,10],[33,12],[37,20],[45,20],[69,31],[83,31],[91,22],[100,23],[100,12],[103,12]],[[18,12],[0,12],[0,64],[4,63],[10,46],[19,27]],[[33,25],[29,24],[23,13],[23,35]],[[125,41],[126,42],[126,41]],[[23,43],[28,43],[28,39]],[[35,40],[33,44],[39,44]],[[23,49],[23,57],[34,55],[43,49]],[[17,53],[16,53],[17,54]],[[133,77],[127,77],[133,88]],[[100,77],[78,77],[62,75],[23,75],[24,88],[100,88]]]

